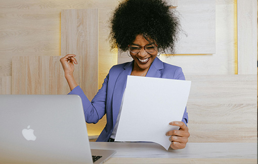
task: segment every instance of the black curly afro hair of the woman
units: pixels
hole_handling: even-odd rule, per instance
[[[154,41],[162,53],[174,53],[180,31],[179,15],[164,0],[124,0],[110,20],[111,50],[128,49],[137,35]]]

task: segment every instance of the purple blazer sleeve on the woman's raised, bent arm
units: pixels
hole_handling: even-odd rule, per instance
[[[74,88],[68,95],[78,95],[81,98],[85,121],[97,123],[106,114],[107,84],[109,74],[104,79],[102,88],[98,91],[92,102],[85,96],[79,86]]]

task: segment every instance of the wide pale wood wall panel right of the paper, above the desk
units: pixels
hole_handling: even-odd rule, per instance
[[[256,142],[256,75],[187,75],[189,142]]]

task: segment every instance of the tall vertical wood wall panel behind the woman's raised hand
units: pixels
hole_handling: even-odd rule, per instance
[[[98,91],[98,9],[62,10],[61,54],[81,56],[81,89],[92,100]]]

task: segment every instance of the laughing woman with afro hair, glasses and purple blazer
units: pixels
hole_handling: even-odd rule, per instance
[[[174,50],[179,31],[177,16],[163,0],[123,1],[115,9],[110,22],[111,49],[118,47],[127,51],[133,61],[114,65],[92,102],[74,80],[74,64],[77,64],[75,55],[68,54],[60,59],[71,89],[69,94],[79,95],[82,99],[85,120],[88,123],[97,123],[106,114],[107,124],[97,141],[114,141],[127,75],[185,80],[180,67],[164,63],[157,58],[158,52]],[[169,123],[180,127],[179,130],[164,134],[170,136],[171,148],[181,149],[186,146],[190,136],[187,122],[188,115],[185,110],[182,121]]]

